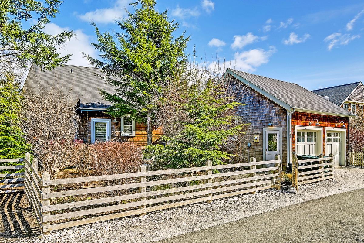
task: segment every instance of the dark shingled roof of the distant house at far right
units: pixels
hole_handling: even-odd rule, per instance
[[[361,82],[348,83],[346,85],[312,90],[312,92],[318,95],[328,96],[332,103],[341,106],[360,84]]]

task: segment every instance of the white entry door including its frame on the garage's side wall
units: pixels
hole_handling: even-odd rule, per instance
[[[276,154],[282,158],[282,128],[263,128],[263,133],[263,160],[275,160]]]

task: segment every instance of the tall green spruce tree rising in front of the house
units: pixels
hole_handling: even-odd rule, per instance
[[[121,32],[115,32],[115,36],[110,32],[101,34],[93,23],[98,43],[92,45],[101,52],[100,60],[87,56],[90,64],[101,68],[100,77],[117,90],[115,94],[101,90],[104,99],[113,104],[109,114],[129,115],[137,122],[145,122],[148,145],[152,144],[151,106],[159,82],[185,60],[184,50],[189,40],[185,33],[174,39],[178,23],[169,20],[167,11],[159,13],[155,4],[155,0],[131,4],[134,13],[128,12],[127,18],[116,21]]]

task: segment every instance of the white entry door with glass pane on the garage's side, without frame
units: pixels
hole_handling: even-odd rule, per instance
[[[281,134],[279,130],[265,131],[265,160],[275,160],[276,154],[280,153]],[[274,164],[268,164],[267,167],[273,167]]]

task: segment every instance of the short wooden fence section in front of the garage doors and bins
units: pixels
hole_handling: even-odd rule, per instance
[[[292,156],[292,187],[298,192],[298,185],[334,178],[333,159],[334,157],[330,154],[328,158],[298,161],[294,154]]]

